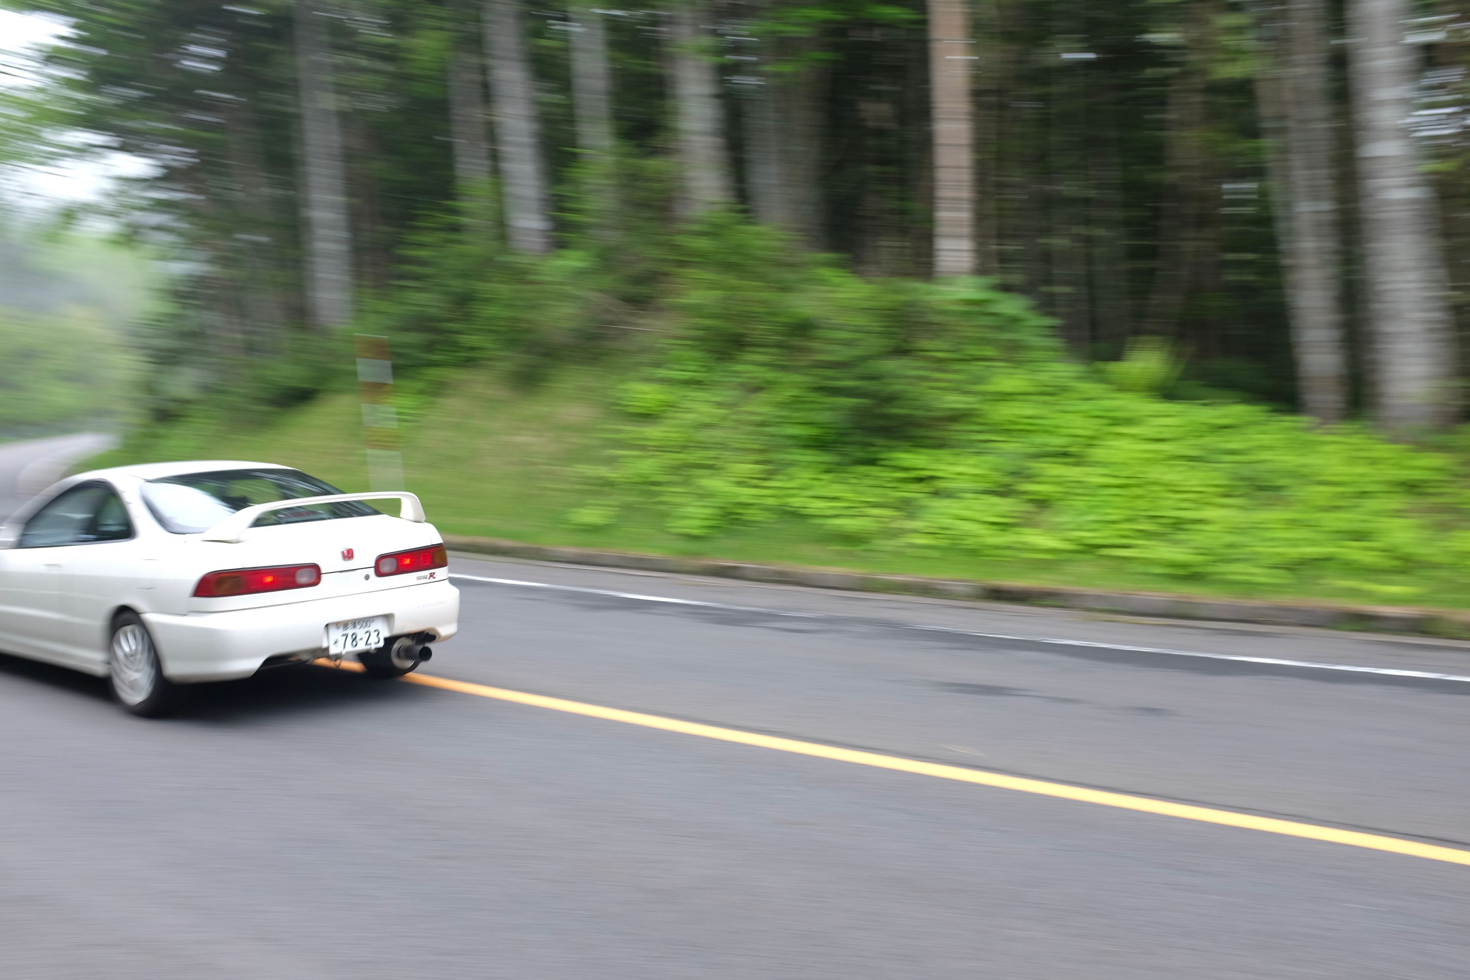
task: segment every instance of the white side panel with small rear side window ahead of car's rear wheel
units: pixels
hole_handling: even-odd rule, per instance
[[[118,491],[101,485],[91,523],[69,548],[62,570],[62,646],[71,661],[103,673],[107,636],[119,605],[144,611],[141,594],[154,586],[156,563],[146,561],[132,516]]]

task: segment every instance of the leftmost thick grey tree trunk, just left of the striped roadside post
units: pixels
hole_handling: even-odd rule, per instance
[[[297,0],[295,4],[295,59],[301,100],[307,316],[312,326],[329,329],[353,319],[353,242],[332,51],[315,0]]]

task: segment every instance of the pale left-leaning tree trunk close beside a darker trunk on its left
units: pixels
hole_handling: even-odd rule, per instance
[[[520,28],[520,0],[485,0],[485,51],[495,115],[506,237],[516,251],[551,250],[535,79]]]

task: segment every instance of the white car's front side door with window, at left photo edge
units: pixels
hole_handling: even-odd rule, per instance
[[[71,486],[35,510],[13,544],[0,551],[0,648],[78,666],[62,641],[62,577],[90,532],[103,483]]]

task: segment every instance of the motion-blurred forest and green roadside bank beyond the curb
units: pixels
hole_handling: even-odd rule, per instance
[[[1463,3],[0,7],[6,436],[360,488],[376,335],[448,532],[1464,604]]]

